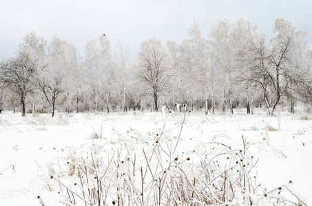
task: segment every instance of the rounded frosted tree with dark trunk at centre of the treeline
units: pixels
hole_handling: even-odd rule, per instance
[[[143,84],[144,94],[154,99],[154,108],[158,111],[160,95],[171,92],[170,79],[174,76],[169,52],[154,37],[142,43],[138,60],[138,80]]]

